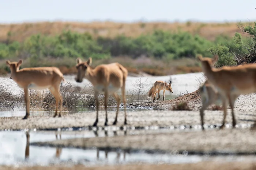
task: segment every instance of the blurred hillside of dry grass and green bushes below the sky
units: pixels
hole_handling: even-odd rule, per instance
[[[133,73],[198,72],[195,56],[209,57],[219,52],[207,51],[210,47],[233,44],[236,31],[241,32],[236,23],[2,24],[0,74],[10,71],[5,59],[19,58],[24,60],[22,67],[57,66],[63,74],[75,73],[75,59],[89,56],[93,66],[119,62]]]

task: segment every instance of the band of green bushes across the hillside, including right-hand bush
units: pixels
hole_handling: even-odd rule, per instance
[[[250,31],[251,29],[248,28]],[[216,45],[218,44],[218,45]],[[188,32],[169,32],[155,30],[153,33],[132,38],[123,35],[107,38],[93,38],[90,33],[63,31],[60,35],[32,35],[24,42],[17,41],[0,43],[0,59],[29,58],[31,63],[42,59],[64,59],[77,57],[93,59],[108,59],[111,56],[130,56],[138,58],[141,55],[170,61],[180,58],[195,58],[197,54],[211,57],[218,54],[218,67],[233,65],[232,53],[245,53],[244,41],[236,34],[233,39],[219,36],[211,42],[199,35]],[[209,50],[207,50],[210,47]],[[212,54],[211,54],[212,53]],[[37,64],[33,64],[37,65]]]

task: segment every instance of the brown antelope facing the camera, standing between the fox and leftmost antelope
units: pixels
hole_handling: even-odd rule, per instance
[[[78,70],[76,82],[81,83],[83,78],[88,79],[94,86],[96,105],[97,105],[97,114],[96,120],[93,126],[97,126],[98,123],[98,111],[99,111],[99,92],[105,93],[105,110],[106,110],[106,119],[105,126],[108,126],[108,114],[107,114],[107,105],[108,105],[108,95],[111,94],[117,100],[117,111],[116,118],[113,122],[113,125],[117,123],[117,115],[119,110],[119,105],[121,102],[120,96],[117,94],[117,90],[121,88],[123,102],[124,102],[124,124],[127,124],[126,120],[126,97],[125,97],[125,80],[128,75],[128,71],[119,63],[111,64],[101,64],[94,69],[91,68],[91,57],[87,62],[82,62],[80,58],[76,59],[76,68]]]

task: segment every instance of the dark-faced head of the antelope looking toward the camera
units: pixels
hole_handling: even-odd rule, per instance
[[[87,68],[91,66],[92,59],[91,57],[87,60],[87,62],[82,62],[80,58],[76,59],[76,69],[77,69],[77,76],[75,78],[76,82],[83,82],[83,78],[86,74]]]

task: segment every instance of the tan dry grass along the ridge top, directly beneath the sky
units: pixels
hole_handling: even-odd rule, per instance
[[[24,41],[26,37],[42,33],[44,35],[56,35],[63,30],[70,29],[79,33],[90,32],[94,37],[115,37],[125,35],[137,37],[141,34],[151,33],[155,29],[164,31],[188,31],[192,34],[199,34],[208,40],[214,40],[218,35],[234,36],[235,32],[241,30],[237,23],[114,23],[114,22],[39,22],[22,24],[0,24],[0,41],[18,40]],[[248,23],[243,23],[248,24]],[[9,33],[9,37],[8,37]]]

